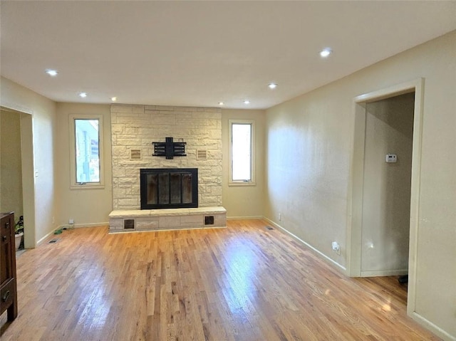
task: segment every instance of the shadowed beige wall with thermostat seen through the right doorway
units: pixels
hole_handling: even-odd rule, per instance
[[[366,105],[361,276],[408,273],[414,105],[414,93]]]

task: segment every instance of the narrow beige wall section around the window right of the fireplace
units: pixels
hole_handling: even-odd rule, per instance
[[[227,218],[264,216],[264,110],[222,110],[223,206]],[[229,120],[255,122],[255,186],[229,186]]]

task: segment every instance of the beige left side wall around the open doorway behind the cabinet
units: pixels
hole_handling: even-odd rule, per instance
[[[24,188],[24,240],[26,247],[33,247],[55,226],[56,103],[2,77],[0,105],[17,110],[18,115],[21,115],[19,112],[25,112],[33,120],[28,130],[32,136],[23,136],[23,142],[25,139],[27,145],[30,137],[33,139],[30,141],[33,142],[33,150],[28,152],[28,146],[26,148],[31,160],[27,164],[24,164],[24,160],[22,162],[28,184]],[[25,120],[24,125],[28,126],[31,122]]]

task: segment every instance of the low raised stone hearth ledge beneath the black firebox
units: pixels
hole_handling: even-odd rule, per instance
[[[222,206],[115,210],[109,214],[110,233],[219,227],[227,227],[227,210]]]

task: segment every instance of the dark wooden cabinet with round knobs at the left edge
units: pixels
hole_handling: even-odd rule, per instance
[[[12,321],[17,316],[14,213],[1,213],[0,217],[0,314],[8,310]]]

